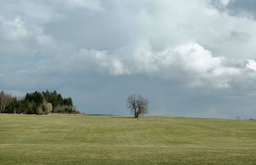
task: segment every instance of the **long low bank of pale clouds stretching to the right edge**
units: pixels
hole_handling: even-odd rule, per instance
[[[253,75],[247,73],[246,68],[255,67],[255,61],[249,61],[246,66],[232,67],[228,59],[212,56],[211,51],[198,43],[167,47],[163,51],[152,51],[152,47],[146,43],[134,49],[133,53],[127,59],[122,54],[81,49],[68,57],[56,56],[54,60],[42,61],[40,65],[54,66],[66,73],[97,72],[113,76],[144,74],[155,79],[177,81],[186,86],[214,88],[232,88],[230,83],[244,79],[250,82]],[[40,70],[53,70],[49,67],[40,67]]]

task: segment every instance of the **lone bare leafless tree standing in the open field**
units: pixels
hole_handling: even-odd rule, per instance
[[[148,113],[148,100],[141,95],[130,95],[127,98],[127,108],[130,109],[134,118]]]

